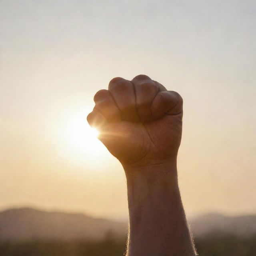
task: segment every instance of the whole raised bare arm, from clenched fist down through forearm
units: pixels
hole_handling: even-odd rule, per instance
[[[113,78],[94,96],[88,123],[124,167],[129,236],[126,256],[194,256],[178,188],[182,98],[146,75]]]

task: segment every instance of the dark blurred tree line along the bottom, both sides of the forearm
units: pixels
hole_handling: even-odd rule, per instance
[[[212,234],[195,239],[200,256],[256,256],[256,234],[248,238]],[[122,256],[126,239],[109,237],[99,242],[5,242],[1,256]]]

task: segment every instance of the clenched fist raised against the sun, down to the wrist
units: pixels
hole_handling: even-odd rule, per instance
[[[173,162],[182,135],[182,98],[148,76],[113,78],[94,96],[90,126],[123,166]]]

